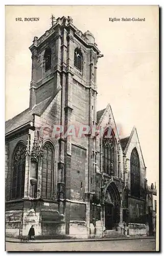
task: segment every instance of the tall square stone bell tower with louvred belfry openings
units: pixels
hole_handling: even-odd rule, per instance
[[[40,38],[34,37],[30,50],[30,108],[61,88],[60,125],[64,131],[69,131],[72,125],[76,130],[75,136],[61,134],[57,141],[58,173],[63,170],[58,183],[63,183],[64,199],[59,204],[64,207],[65,233],[71,232],[73,220],[79,220],[83,211],[82,220],[86,221],[89,234],[89,200],[90,193],[95,191],[96,137],[91,137],[91,130],[85,136],[78,136],[77,130],[82,125],[96,124],[97,62],[103,55],[92,33],[78,30],[70,16],[56,20],[53,17],[52,27]],[[78,210],[75,201],[81,204]]]

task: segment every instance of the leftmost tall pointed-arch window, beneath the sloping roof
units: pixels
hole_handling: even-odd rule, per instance
[[[19,142],[15,148],[13,157],[13,177],[11,198],[24,197],[25,188],[25,166],[26,166],[26,146]]]

